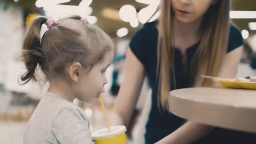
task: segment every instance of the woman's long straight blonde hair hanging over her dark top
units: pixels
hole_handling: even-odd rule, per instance
[[[168,110],[170,80],[174,77],[174,27],[170,0],[160,4],[158,35],[158,105]],[[210,86],[211,81],[201,75],[217,76],[228,47],[230,0],[217,1],[212,5],[201,23],[202,38],[190,65],[190,86]],[[171,75],[171,76],[170,76]],[[171,79],[170,79],[171,78]],[[175,82],[174,82],[175,85]],[[174,86],[176,87],[176,86]]]

